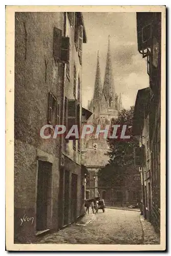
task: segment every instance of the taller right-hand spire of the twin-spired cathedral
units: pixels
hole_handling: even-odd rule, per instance
[[[109,35],[109,42],[108,42],[108,54],[107,54],[106,66],[105,66],[103,93],[106,101],[108,101],[111,97],[113,98],[115,96],[111,51],[110,51],[110,35]]]

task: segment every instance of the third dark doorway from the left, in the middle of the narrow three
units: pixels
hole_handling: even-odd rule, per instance
[[[68,213],[69,213],[69,190],[70,189],[70,172],[65,171],[65,204],[64,204],[64,221],[63,224],[68,224]]]

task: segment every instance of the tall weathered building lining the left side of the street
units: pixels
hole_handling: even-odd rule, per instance
[[[83,214],[81,143],[42,139],[55,124],[81,126],[81,13],[15,13],[14,242],[58,230]],[[69,108],[73,106],[73,108]],[[22,218],[33,218],[32,224]]]

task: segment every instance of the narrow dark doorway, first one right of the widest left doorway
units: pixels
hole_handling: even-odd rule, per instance
[[[58,208],[58,217],[59,217],[59,228],[62,227],[63,222],[63,169],[59,170],[59,208]]]

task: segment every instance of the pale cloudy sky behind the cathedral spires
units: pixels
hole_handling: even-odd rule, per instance
[[[137,49],[136,13],[82,14],[88,39],[82,53],[82,105],[86,108],[93,98],[98,50],[103,85],[110,35],[115,92],[121,93],[123,108],[129,109],[135,104],[137,91],[149,86],[146,59]]]

